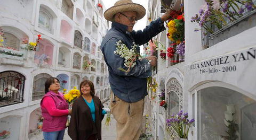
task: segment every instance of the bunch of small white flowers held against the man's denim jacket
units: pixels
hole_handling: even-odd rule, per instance
[[[132,42],[132,48],[129,49],[121,40],[116,42],[116,51],[114,51],[115,55],[119,55],[120,57],[124,58],[124,66],[128,69],[125,70],[124,68],[118,68],[123,72],[130,72],[131,69],[136,65],[136,60],[141,60],[141,56],[139,52],[137,52],[138,45],[135,45],[135,42]],[[148,62],[149,63],[149,62]],[[155,93],[156,89],[158,88],[157,82],[155,78],[152,76],[147,77],[147,89],[151,93]]]

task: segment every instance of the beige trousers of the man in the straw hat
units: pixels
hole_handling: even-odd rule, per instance
[[[141,134],[144,99],[128,103],[111,93],[110,110],[117,121],[116,140],[138,140]]]

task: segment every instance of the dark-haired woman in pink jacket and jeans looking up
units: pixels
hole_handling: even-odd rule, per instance
[[[60,81],[55,77],[50,77],[45,81],[45,95],[41,100],[43,120],[44,140],[62,140],[67,116],[71,113],[68,103],[59,92]]]

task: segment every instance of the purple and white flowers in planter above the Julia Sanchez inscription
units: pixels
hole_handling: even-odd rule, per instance
[[[212,26],[220,30],[242,17],[246,12],[253,11],[256,8],[254,3],[255,1],[252,0],[205,0],[199,14],[191,17],[191,22],[196,22],[203,30],[214,33]]]

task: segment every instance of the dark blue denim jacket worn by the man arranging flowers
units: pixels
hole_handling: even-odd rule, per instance
[[[136,65],[129,73],[119,70],[118,68],[127,70],[127,67],[124,66],[124,58],[114,54],[116,42],[121,40],[129,49],[132,48],[132,42],[135,42],[139,52],[140,45],[147,43],[165,28],[160,17],[152,21],[143,31],[127,32],[127,28],[126,25],[113,22],[100,48],[108,66],[111,90],[118,98],[131,103],[143,99],[148,94],[147,77],[151,76],[151,66],[147,59],[142,59],[136,60]]]

